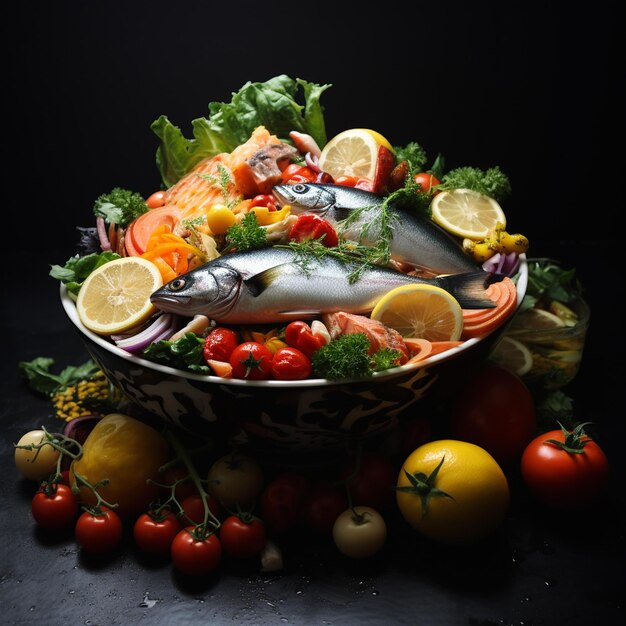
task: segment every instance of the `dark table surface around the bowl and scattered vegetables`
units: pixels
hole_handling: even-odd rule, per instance
[[[604,242],[585,244],[600,258]],[[549,244],[565,262],[580,244]],[[588,255],[588,256],[587,256]],[[617,252],[614,253],[617,257]],[[603,257],[606,259],[606,255]],[[616,263],[613,265],[616,267]],[[351,561],[326,539],[290,537],[285,566],[227,563],[218,576],[188,580],[168,562],[150,562],[124,545],[106,558],[77,549],[70,534],[39,532],[30,513],[33,485],[14,467],[13,444],[55,418],[47,399],[19,377],[17,363],[50,356],[56,366],[86,360],[45,264],[33,261],[20,280],[4,281],[5,336],[0,392],[0,484],[3,529],[1,621],[6,624],[533,624],[623,623],[624,433],[623,337],[616,301],[607,300],[596,268],[579,276],[592,323],[583,364],[566,391],[580,421],[593,421],[611,463],[611,489],[595,507],[567,516],[534,505],[515,478],[512,505],[495,536],[471,548],[429,544],[403,520],[389,520],[376,557]],[[606,341],[606,337],[617,337]],[[8,340],[8,346],[6,344]]]

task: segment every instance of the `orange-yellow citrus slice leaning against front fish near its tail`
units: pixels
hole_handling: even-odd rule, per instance
[[[403,337],[457,341],[463,330],[458,301],[435,285],[403,285],[386,293],[370,316]]]

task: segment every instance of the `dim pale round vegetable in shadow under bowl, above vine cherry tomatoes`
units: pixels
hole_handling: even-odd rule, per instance
[[[241,452],[217,459],[207,474],[207,491],[225,508],[253,504],[263,490],[263,470],[258,461]]]

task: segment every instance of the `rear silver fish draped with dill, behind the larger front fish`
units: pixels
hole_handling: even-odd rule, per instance
[[[348,240],[373,246],[380,239],[382,196],[344,185],[297,183],[276,185],[272,193],[282,204],[291,205],[291,212],[315,213],[329,220]],[[432,220],[416,212],[389,206],[393,236],[390,256],[431,274],[459,274],[478,269],[463,251],[461,244]],[[354,216],[354,211],[359,213]],[[344,222],[353,214],[354,219]],[[365,229],[365,230],[364,230]]]

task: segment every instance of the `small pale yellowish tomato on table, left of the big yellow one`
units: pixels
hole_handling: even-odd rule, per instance
[[[387,540],[387,524],[369,506],[354,506],[341,513],[333,524],[333,541],[340,552],[363,559],[379,552]]]

